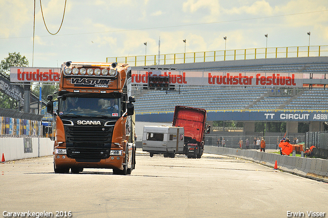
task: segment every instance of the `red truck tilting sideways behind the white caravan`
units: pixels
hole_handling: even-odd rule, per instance
[[[200,158],[204,150],[205,134],[210,133],[210,126],[206,123],[206,110],[175,106],[173,126],[185,129],[183,153],[188,158]]]

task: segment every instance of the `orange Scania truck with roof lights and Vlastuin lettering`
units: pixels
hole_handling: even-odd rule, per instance
[[[47,112],[55,118],[55,173],[107,168],[131,174],[136,151],[131,67],[65,62],[54,95],[47,97]]]

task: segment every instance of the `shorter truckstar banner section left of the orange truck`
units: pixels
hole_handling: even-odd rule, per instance
[[[11,67],[10,82],[59,83],[60,68]]]

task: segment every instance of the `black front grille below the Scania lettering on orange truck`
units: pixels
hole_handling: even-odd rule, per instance
[[[67,156],[78,162],[99,162],[108,158],[113,128],[65,126]]]

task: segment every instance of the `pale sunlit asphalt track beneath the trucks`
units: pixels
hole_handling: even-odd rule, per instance
[[[313,211],[328,217],[323,182],[214,154],[165,158],[138,150],[136,161],[127,176],[107,169],[55,174],[52,156],[0,164],[1,215],[314,217]]]

